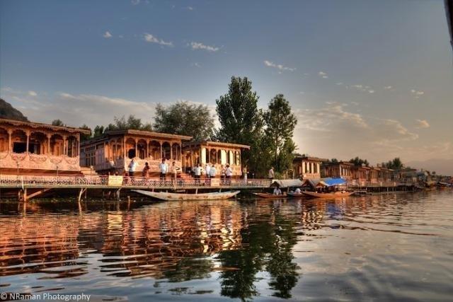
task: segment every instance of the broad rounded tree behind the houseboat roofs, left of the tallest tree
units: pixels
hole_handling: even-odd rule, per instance
[[[164,107],[157,104],[154,129],[158,132],[188,135],[194,141],[205,141],[212,138],[214,118],[207,105],[178,102]]]

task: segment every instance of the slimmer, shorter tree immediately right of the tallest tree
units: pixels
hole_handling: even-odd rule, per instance
[[[268,110],[264,113],[264,121],[266,126],[264,132],[272,150],[275,170],[282,173],[291,165],[288,167],[288,162],[283,163],[279,158],[281,160],[292,157],[296,147],[292,142],[292,134],[297,124],[297,118],[292,114],[291,106],[282,94],[277,94],[270,100]],[[289,150],[290,153],[287,153]]]

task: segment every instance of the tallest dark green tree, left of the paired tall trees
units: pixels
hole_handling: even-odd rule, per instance
[[[263,141],[263,112],[258,109],[258,95],[247,77],[231,77],[228,93],[216,100],[220,128],[216,139],[251,146],[243,151],[243,164],[256,176],[268,170],[268,148]]]

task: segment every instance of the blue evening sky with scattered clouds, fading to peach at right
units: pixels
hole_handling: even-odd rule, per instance
[[[0,97],[35,122],[152,122],[179,100],[215,115],[231,76],[260,108],[285,95],[299,153],[453,174],[443,0],[0,0]]]

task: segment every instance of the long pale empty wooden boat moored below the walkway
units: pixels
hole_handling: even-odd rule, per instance
[[[236,196],[241,191],[227,191],[227,192],[213,192],[213,193],[200,193],[200,194],[181,194],[181,193],[168,193],[168,192],[151,192],[144,190],[132,190],[139,194],[144,194],[148,197],[153,197],[161,200],[214,200],[214,199],[228,199]]]

